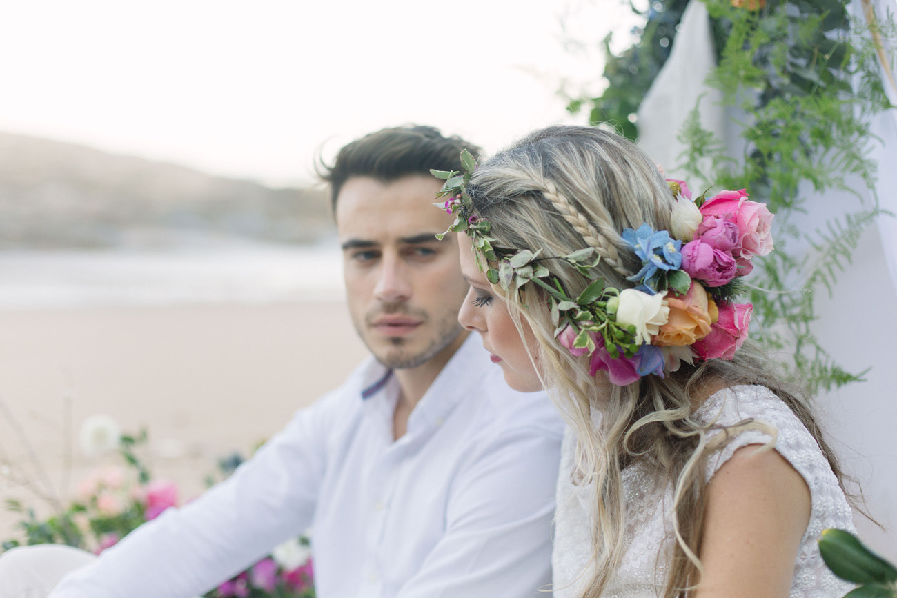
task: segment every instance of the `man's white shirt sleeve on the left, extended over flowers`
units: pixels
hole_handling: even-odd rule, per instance
[[[141,525],[50,598],[204,594],[305,531],[326,465],[327,403],[337,398],[297,412],[228,480]]]

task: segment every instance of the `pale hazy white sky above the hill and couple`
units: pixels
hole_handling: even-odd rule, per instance
[[[597,43],[630,27],[619,0],[7,2],[0,130],[274,184],[407,122],[494,151],[581,122],[555,91],[595,88]]]

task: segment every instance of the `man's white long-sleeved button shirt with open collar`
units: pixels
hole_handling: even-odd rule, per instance
[[[309,525],[318,598],[536,596],[551,580],[562,423],[545,394],[509,390],[474,336],[402,438],[396,380],[370,359],[229,480],[51,598],[202,594]]]

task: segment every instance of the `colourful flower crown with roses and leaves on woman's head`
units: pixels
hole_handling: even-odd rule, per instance
[[[644,223],[623,230],[623,240],[641,260],[627,277],[635,288],[618,290],[597,277],[576,297],[548,267],[560,260],[588,276],[601,257],[593,247],[566,256],[540,256],[528,249],[494,247],[492,224],[474,212],[466,187],[476,160],[461,152],[465,172],[431,170],[444,179],[435,204],[455,215],[445,233],[466,232],[476,264],[505,291],[536,284],[548,294],[554,336],[573,356],[588,355],[589,374],[607,372],[623,386],[640,377],[664,377],[682,361],[731,360],[745,342],[753,305],[732,301],[739,279],[753,270],[754,256],[772,250],[772,214],[747,199],[745,189],[722,191],[692,202],[682,180],[666,179],[675,197],[671,226],[653,230]],[[483,262],[485,264],[483,264]],[[496,267],[497,266],[497,267]]]

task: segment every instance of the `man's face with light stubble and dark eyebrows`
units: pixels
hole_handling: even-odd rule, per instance
[[[448,357],[463,340],[457,311],[467,285],[453,218],[433,206],[441,182],[411,175],[383,183],[353,177],[336,199],[345,288],[353,324],[370,352],[390,368],[416,368]]]

